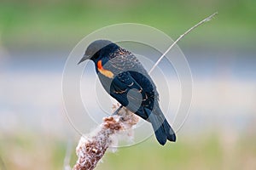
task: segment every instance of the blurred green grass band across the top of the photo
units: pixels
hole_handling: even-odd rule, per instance
[[[218,11],[211,26],[190,35],[189,46],[219,39],[227,48],[255,37],[255,1],[1,1],[0,33],[15,48],[74,45],[103,26],[135,22],[154,26],[172,37]],[[207,36],[203,36],[207,35]],[[237,41],[234,41],[237,40]],[[191,43],[192,42],[192,43]],[[250,46],[248,43],[246,46]],[[251,46],[250,46],[251,47]]]

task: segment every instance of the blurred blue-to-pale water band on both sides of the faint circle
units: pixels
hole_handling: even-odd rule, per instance
[[[1,130],[22,125],[58,133],[68,126],[61,99],[61,77],[68,54],[26,51],[10,52],[1,58]],[[238,127],[242,128],[254,119],[256,52],[184,54],[194,78],[189,123],[194,127],[240,124]],[[89,74],[96,76],[94,69]]]

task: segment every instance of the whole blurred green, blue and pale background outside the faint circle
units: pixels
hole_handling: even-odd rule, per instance
[[[256,1],[1,0],[0,169],[71,166],[79,134],[63,115],[61,73],[90,32],[118,23],[154,26],[178,42],[194,77],[191,113],[176,144],[154,137],[108,153],[96,169],[256,169]]]

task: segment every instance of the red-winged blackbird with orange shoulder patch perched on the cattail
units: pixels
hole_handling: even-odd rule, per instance
[[[130,111],[151,122],[156,139],[176,141],[172,127],[160,110],[159,94],[148,72],[134,54],[108,40],[91,42],[79,61],[91,59],[103,88]]]

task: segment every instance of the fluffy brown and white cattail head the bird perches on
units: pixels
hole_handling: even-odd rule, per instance
[[[125,107],[117,115],[103,118],[100,129],[96,130],[95,135],[81,137],[76,149],[78,161],[74,165],[73,170],[94,169],[109,146],[118,142],[113,138],[114,135],[130,130],[138,121],[138,116],[128,111]],[[127,135],[131,135],[131,133],[127,133]]]

